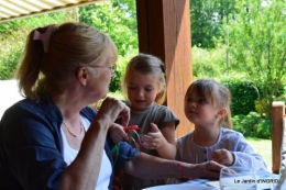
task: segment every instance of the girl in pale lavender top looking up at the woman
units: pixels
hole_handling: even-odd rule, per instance
[[[185,96],[185,115],[195,131],[177,139],[177,160],[266,169],[243,135],[232,130],[230,92],[223,85],[212,79],[191,83]]]

